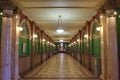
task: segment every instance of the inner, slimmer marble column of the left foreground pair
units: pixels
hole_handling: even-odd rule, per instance
[[[19,54],[18,54],[18,37],[19,37],[20,17],[18,15],[12,18],[11,34],[11,80],[19,79]]]

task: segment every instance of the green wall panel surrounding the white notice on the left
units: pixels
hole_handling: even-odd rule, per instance
[[[25,51],[23,51],[23,44],[26,44]],[[31,40],[19,37],[19,56],[28,56],[31,54]]]

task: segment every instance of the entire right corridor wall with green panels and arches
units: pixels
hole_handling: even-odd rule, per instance
[[[96,76],[100,76],[101,37],[100,31],[96,30],[97,27],[100,27],[98,14],[86,22],[85,26],[72,38],[69,49],[75,59]]]

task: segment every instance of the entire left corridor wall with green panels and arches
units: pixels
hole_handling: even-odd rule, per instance
[[[20,14],[19,27],[23,28],[22,31],[19,31],[19,72],[20,76],[23,76],[49,59],[54,53],[55,45],[44,31],[40,30],[35,23],[22,13]],[[46,41],[43,41],[43,39]]]

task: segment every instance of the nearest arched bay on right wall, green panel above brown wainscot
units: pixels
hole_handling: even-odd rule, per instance
[[[97,19],[94,19],[91,25],[90,53],[91,70],[99,77],[101,74],[101,37],[100,24]]]

